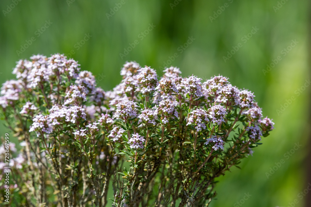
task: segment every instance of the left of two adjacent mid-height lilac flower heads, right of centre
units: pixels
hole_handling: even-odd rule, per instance
[[[187,125],[192,124],[197,132],[206,129],[206,123],[209,121],[207,111],[204,109],[193,110],[189,116],[189,121]]]

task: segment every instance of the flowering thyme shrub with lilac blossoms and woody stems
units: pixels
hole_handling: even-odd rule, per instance
[[[159,78],[127,62],[104,92],[72,59],[30,59],[1,88],[3,119],[22,146],[19,155],[10,146],[12,206],[106,206],[109,195],[114,207],[208,206],[215,178],[273,129],[253,93],[223,76],[202,83],[170,67]],[[4,145],[1,186],[3,154]]]

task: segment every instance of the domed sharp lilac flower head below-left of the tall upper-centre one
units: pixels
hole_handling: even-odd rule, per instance
[[[137,117],[137,103],[134,101],[123,100],[119,101],[116,105],[116,110],[112,118],[114,119],[130,119]]]

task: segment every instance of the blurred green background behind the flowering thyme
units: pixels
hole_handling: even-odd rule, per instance
[[[253,91],[275,130],[241,170],[219,178],[211,206],[311,206],[311,193],[298,195],[310,182],[309,1],[2,0],[0,8],[0,83],[14,78],[19,59],[59,52],[105,90],[119,83],[124,62],[135,60],[160,75],[165,63],[184,76],[221,74]],[[245,193],[251,196],[243,201]]]

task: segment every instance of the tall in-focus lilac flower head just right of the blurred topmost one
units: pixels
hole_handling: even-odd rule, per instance
[[[141,92],[142,94],[149,94],[155,90],[158,83],[158,75],[156,70],[146,66],[138,70],[137,74],[137,83],[138,87],[136,91]]]

